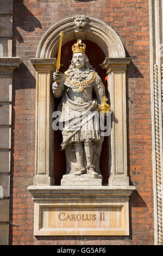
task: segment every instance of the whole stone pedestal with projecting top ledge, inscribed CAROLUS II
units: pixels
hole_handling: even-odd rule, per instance
[[[30,186],[34,235],[129,235],[134,186]]]

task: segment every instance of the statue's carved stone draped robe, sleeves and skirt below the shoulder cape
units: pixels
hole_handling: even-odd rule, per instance
[[[96,73],[95,80],[83,86],[83,92],[71,86],[65,77],[62,79],[62,84],[64,84],[62,90],[58,86],[53,87],[54,96],[62,93],[62,101],[58,107],[61,111],[59,121],[64,123],[61,150],[70,143],[83,142],[85,139],[93,141],[101,139],[98,108],[101,98],[105,96],[101,78]],[[92,98],[92,90],[95,90],[97,99]]]

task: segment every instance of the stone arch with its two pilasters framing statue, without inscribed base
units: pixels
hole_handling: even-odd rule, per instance
[[[108,74],[108,93],[112,110],[112,130],[109,138],[109,184],[129,185],[127,176],[126,134],[126,58],[123,44],[116,32],[104,22],[89,17],[84,31],[78,32],[73,17],[48,29],[37,47],[36,58],[30,59],[36,70],[36,147],[35,185],[53,185],[53,96],[52,72],[55,70],[59,34],[62,45],[73,39],[87,39],[102,48],[105,61],[101,67]],[[46,143],[45,143],[46,142]]]

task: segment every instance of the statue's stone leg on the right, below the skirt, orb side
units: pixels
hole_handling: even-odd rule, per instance
[[[98,175],[95,172],[95,166],[93,166],[93,147],[92,147],[92,140],[85,139],[84,141],[84,149],[86,155],[86,168],[88,174]]]

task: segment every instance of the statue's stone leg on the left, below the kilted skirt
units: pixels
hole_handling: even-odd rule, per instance
[[[82,143],[74,143],[74,151],[76,154],[77,158],[77,163],[78,163],[78,169],[77,172],[74,173],[76,175],[80,175],[84,172],[84,149],[83,149],[83,144]]]

